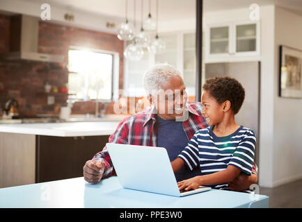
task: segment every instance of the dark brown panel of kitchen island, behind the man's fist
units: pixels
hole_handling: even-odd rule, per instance
[[[108,136],[51,137],[36,136],[35,182],[47,182],[83,176],[83,167],[95,153],[102,151]]]

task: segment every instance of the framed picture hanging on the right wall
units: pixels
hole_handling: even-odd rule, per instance
[[[280,46],[279,96],[302,99],[302,50]]]

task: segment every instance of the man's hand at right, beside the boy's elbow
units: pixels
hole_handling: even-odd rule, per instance
[[[250,189],[250,186],[255,183],[257,183],[257,176],[254,173],[251,176],[240,173],[235,180],[228,183],[228,186],[232,191],[244,191]]]

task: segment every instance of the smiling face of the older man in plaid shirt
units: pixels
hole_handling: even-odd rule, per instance
[[[161,90],[156,97],[152,97],[152,104],[157,108],[157,114],[163,119],[182,117],[188,96],[184,81],[180,76],[173,76],[161,84]]]

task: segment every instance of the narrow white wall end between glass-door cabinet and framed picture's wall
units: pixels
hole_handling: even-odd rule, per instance
[[[260,77],[260,133],[259,184],[273,187],[273,102],[275,76],[274,22],[275,6],[260,8],[261,18],[261,77]]]

